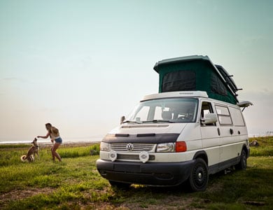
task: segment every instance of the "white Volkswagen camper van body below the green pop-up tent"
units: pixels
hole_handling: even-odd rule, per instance
[[[232,166],[246,169],[249,144],[241,107],[249,105],[224,102],[202,90],[150,94],[102,139],[99,174],[122,188],[132,183],[179,186],[187,182],[193,191],[205,190],[209,174]]]

